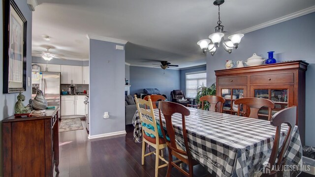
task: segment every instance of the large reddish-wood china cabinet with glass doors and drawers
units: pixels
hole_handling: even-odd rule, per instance
[[[275,103],[272,115],[276,112],[297,106],[296,125],[302,144],[305,139],[305,72],[309,63],[301,60],[275,64],[248,66],[217,70],[217,95],[225,98],[223,113],[237,114],[238,105],[234,101],[242,97],[270,99]],[[246,106],[241,107],[248,113]],[[259,118],[267,119],[268,110],[262,108]]]

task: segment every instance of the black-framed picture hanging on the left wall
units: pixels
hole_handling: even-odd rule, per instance
[[[27,21],[14,0],[3,0],[3,93],[26,90]]]

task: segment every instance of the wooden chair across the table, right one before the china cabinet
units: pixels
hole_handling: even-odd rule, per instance
[[[238,105],[238,116],[240,116],[241,104],[248,106],[250,108],[250,114],[246,113],[246,110],[244,110],[244,114],[249,118],[258,118],[259,109],[266,106],[268,107],[268,120],[271,118],[271,109],[275,108],[275,103],[265,98],[240,98],[235,100],[234,104]]]

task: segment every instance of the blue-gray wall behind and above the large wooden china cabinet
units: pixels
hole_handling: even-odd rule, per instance
[[[264,59],[268,51],[275,51],[279,61],[306,60],[310,65],[306,71],[306,145],[315,147],[315,13],[304,15],[280,24],[246,33],[239,48],[229,55],[220,47],[211,56],[207,53],[207,85],[216,81],[215,70],[225,68],[225,60],[246,60],[256,53]]]

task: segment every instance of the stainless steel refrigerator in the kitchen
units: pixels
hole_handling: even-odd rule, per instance
[[[60,80],[60,72],[32,71],[32,99],[36,96],[36,89],[40,89],[48,106],[60,108]],[[60,111],[58,116],[60,117]]]

